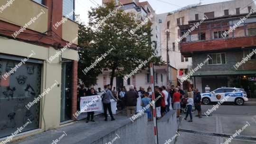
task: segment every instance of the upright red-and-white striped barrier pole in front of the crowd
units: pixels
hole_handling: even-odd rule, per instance
[[[150,63],[150,74],[151,74],[151,87],[152,87],[152,101],[153,103],[153,121],[154,121],[154,135],[155,135],[155,144],[158,144],[158,135],[157,135],[157,123],[156,123],[156,105],[155,105],[155,92],[154,92],[154,74],[153,74],[153,64]]]

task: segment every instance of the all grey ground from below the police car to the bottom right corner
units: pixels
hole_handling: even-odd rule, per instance
[[[202,105],[202,114],[215,104]],[[256,144],[256,101],[242,106],[224,103],[202,119],[195,117],[196,114],[197,111],[192,114],[193,122],[188,122],[182,113],[180,136],[175,144]]]

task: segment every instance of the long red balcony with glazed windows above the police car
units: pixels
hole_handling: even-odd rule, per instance
[[[180,51],[185,57],[191,57],[193,51],[252,47],[256,46],[256,18],[181,25],[180,35],[176,41],[181,41]]]

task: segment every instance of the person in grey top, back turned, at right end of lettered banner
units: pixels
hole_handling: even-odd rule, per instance
[[[112,92],[109,89],[111,89],[111,85],[104,85],[103,92],[105,94],[103,94],[103,96],[102,96],[102,102],[103,102],[105,121],[107,121],[107,109],[109,111],[111,120],[115,120],[114,117],[113,117],[112,110],[111,110],[110,97],[112,99],[114,99],[115,102],[117,102],[117,100],[114,98],[114,96],[112,95]]]

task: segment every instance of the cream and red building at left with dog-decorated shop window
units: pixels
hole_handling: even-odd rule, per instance
[[[32,134],[75,120],[74,4],[0,1],[0,138],[20,127],[19,135]]]

